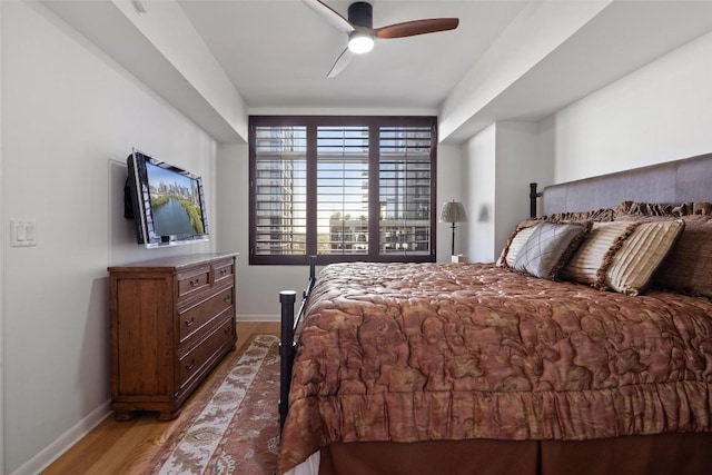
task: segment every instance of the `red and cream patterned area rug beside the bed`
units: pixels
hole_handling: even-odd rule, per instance
[[[279,448],[279,337],[255,335],[200,389],[205,400],[150,464],[151,474],[270,475]]]

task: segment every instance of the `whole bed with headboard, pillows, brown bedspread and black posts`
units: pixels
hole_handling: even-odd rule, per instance
[[[712,473],[711,185],[705,155],[548,187],[497,263],[312,266],[278,472]]]

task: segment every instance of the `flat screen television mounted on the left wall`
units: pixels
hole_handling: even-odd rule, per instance
[[[209,239],[200,176],[136,149],[127,165],[125,215],[134,218],[138,244],[161,247]]]

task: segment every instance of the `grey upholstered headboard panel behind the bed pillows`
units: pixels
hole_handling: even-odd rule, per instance
[[[615,208],[621,201],[712,201],[712,154],[552,185],[543,197],[544,215]]]

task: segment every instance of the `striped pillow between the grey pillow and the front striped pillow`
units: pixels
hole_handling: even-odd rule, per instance
[[[561,278],[603,288],[605,270],[639,222],[594,222],[591,232],[562,269]]]

